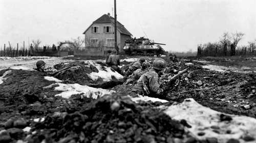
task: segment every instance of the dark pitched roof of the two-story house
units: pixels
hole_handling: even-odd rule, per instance
[[[97,20],[93,21],[92,24],[94,23],[111,23],[114,25],[115,23],[115,18],[107,15],[107,14],[104,14],[102,15],[100,18],[98,18]],[[92,24],[87,28],[86,31],[83,32],[83,34],[86,34],[86,32],[89,30],[89,28],[92,26]],[[123,24],[121,24],[119,21],[117,21],[117,30],[121,33],[121,34],[125,34],[125,35],[130,35],[132,36],[132,34],[124,27]]]

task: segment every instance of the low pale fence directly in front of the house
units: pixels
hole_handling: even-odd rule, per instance
[[[74,56],[104,56],[108,50],[114,47],[85,47],[83,49],[75,49]]]

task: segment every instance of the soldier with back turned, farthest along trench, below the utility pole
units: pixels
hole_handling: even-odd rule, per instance
[[[112,54],[109,56],[108,61],[106,61],[106,64],[113,68],[115,71],[119,71],[118,66],[120,65],[120,59],[119,55],[117,55],[117,50],[114,49],[112,51]]]

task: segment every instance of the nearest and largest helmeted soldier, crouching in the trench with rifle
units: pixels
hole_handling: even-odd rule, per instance
[[[140,95],[162,95],[164,90],[161,88],[159,78],[161,71],[165,69],[165,66],[166,63],[163,59],[155,59],[152,69],[140,76],[133,92]]]

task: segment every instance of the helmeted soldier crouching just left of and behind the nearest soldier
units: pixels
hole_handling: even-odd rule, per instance
[[[148,71],[148,68],[151,67],[150,62],[143,62],[140,69],[137,69],[133,72],[132,75],[129,76],[129,78],[126,80],[125,85],[137,81],[140,76]]]

